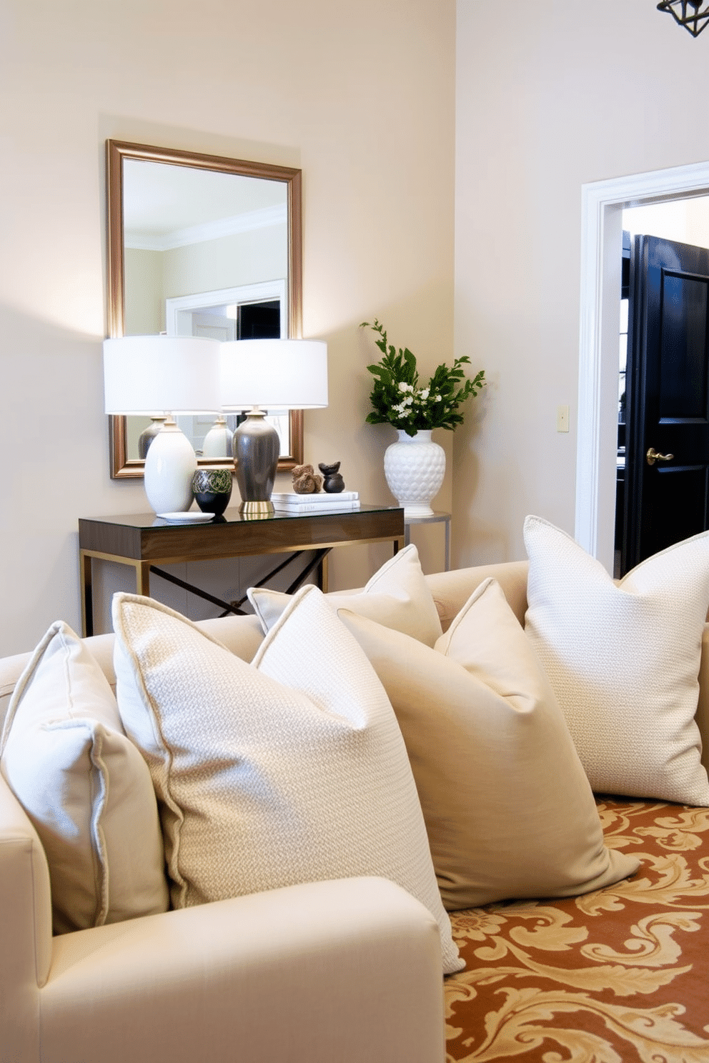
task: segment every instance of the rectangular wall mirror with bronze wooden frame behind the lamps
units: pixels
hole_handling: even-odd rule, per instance
[[[108,140],[108,334],[301,336],[301,171]],[[179,418],[198,463],[215,417]],[[235,428],[237,417],[226,417]],[[300,410],[269,410],[280,469],[303,460]],[[217,423],[223,424],[223,421]],[[111,418],[111,475],[142,476],[148,418]],[[227,434],[212,433],[210,440]]]

